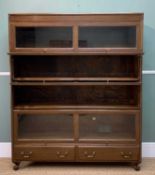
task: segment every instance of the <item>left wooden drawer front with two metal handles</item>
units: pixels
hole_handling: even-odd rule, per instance
[[[15,147],[14,160],[73,161],[74,147]]]

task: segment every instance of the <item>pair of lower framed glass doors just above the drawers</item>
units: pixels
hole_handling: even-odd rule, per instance
[[[14,141],[139,143],[139,110],[15,110]]]

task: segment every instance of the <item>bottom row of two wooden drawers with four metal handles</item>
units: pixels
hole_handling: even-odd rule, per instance
[[[13,161],[139,162],[140,149],[136,146],[15,146]]]

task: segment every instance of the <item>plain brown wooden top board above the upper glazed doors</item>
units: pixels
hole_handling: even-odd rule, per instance
[[[9,14],[10,21],[13,22],[49,22],[49,21],[139,21],[143,19],[143,13],[105,13],[105,14],[36,14],[36,13],[17,13]],[[65,20],[65,21],[64,21]]]

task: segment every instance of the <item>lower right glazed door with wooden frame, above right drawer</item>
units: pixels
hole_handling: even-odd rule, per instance
[[[79,142],[136,143],[138,111],[106,111],[79,115]]]

